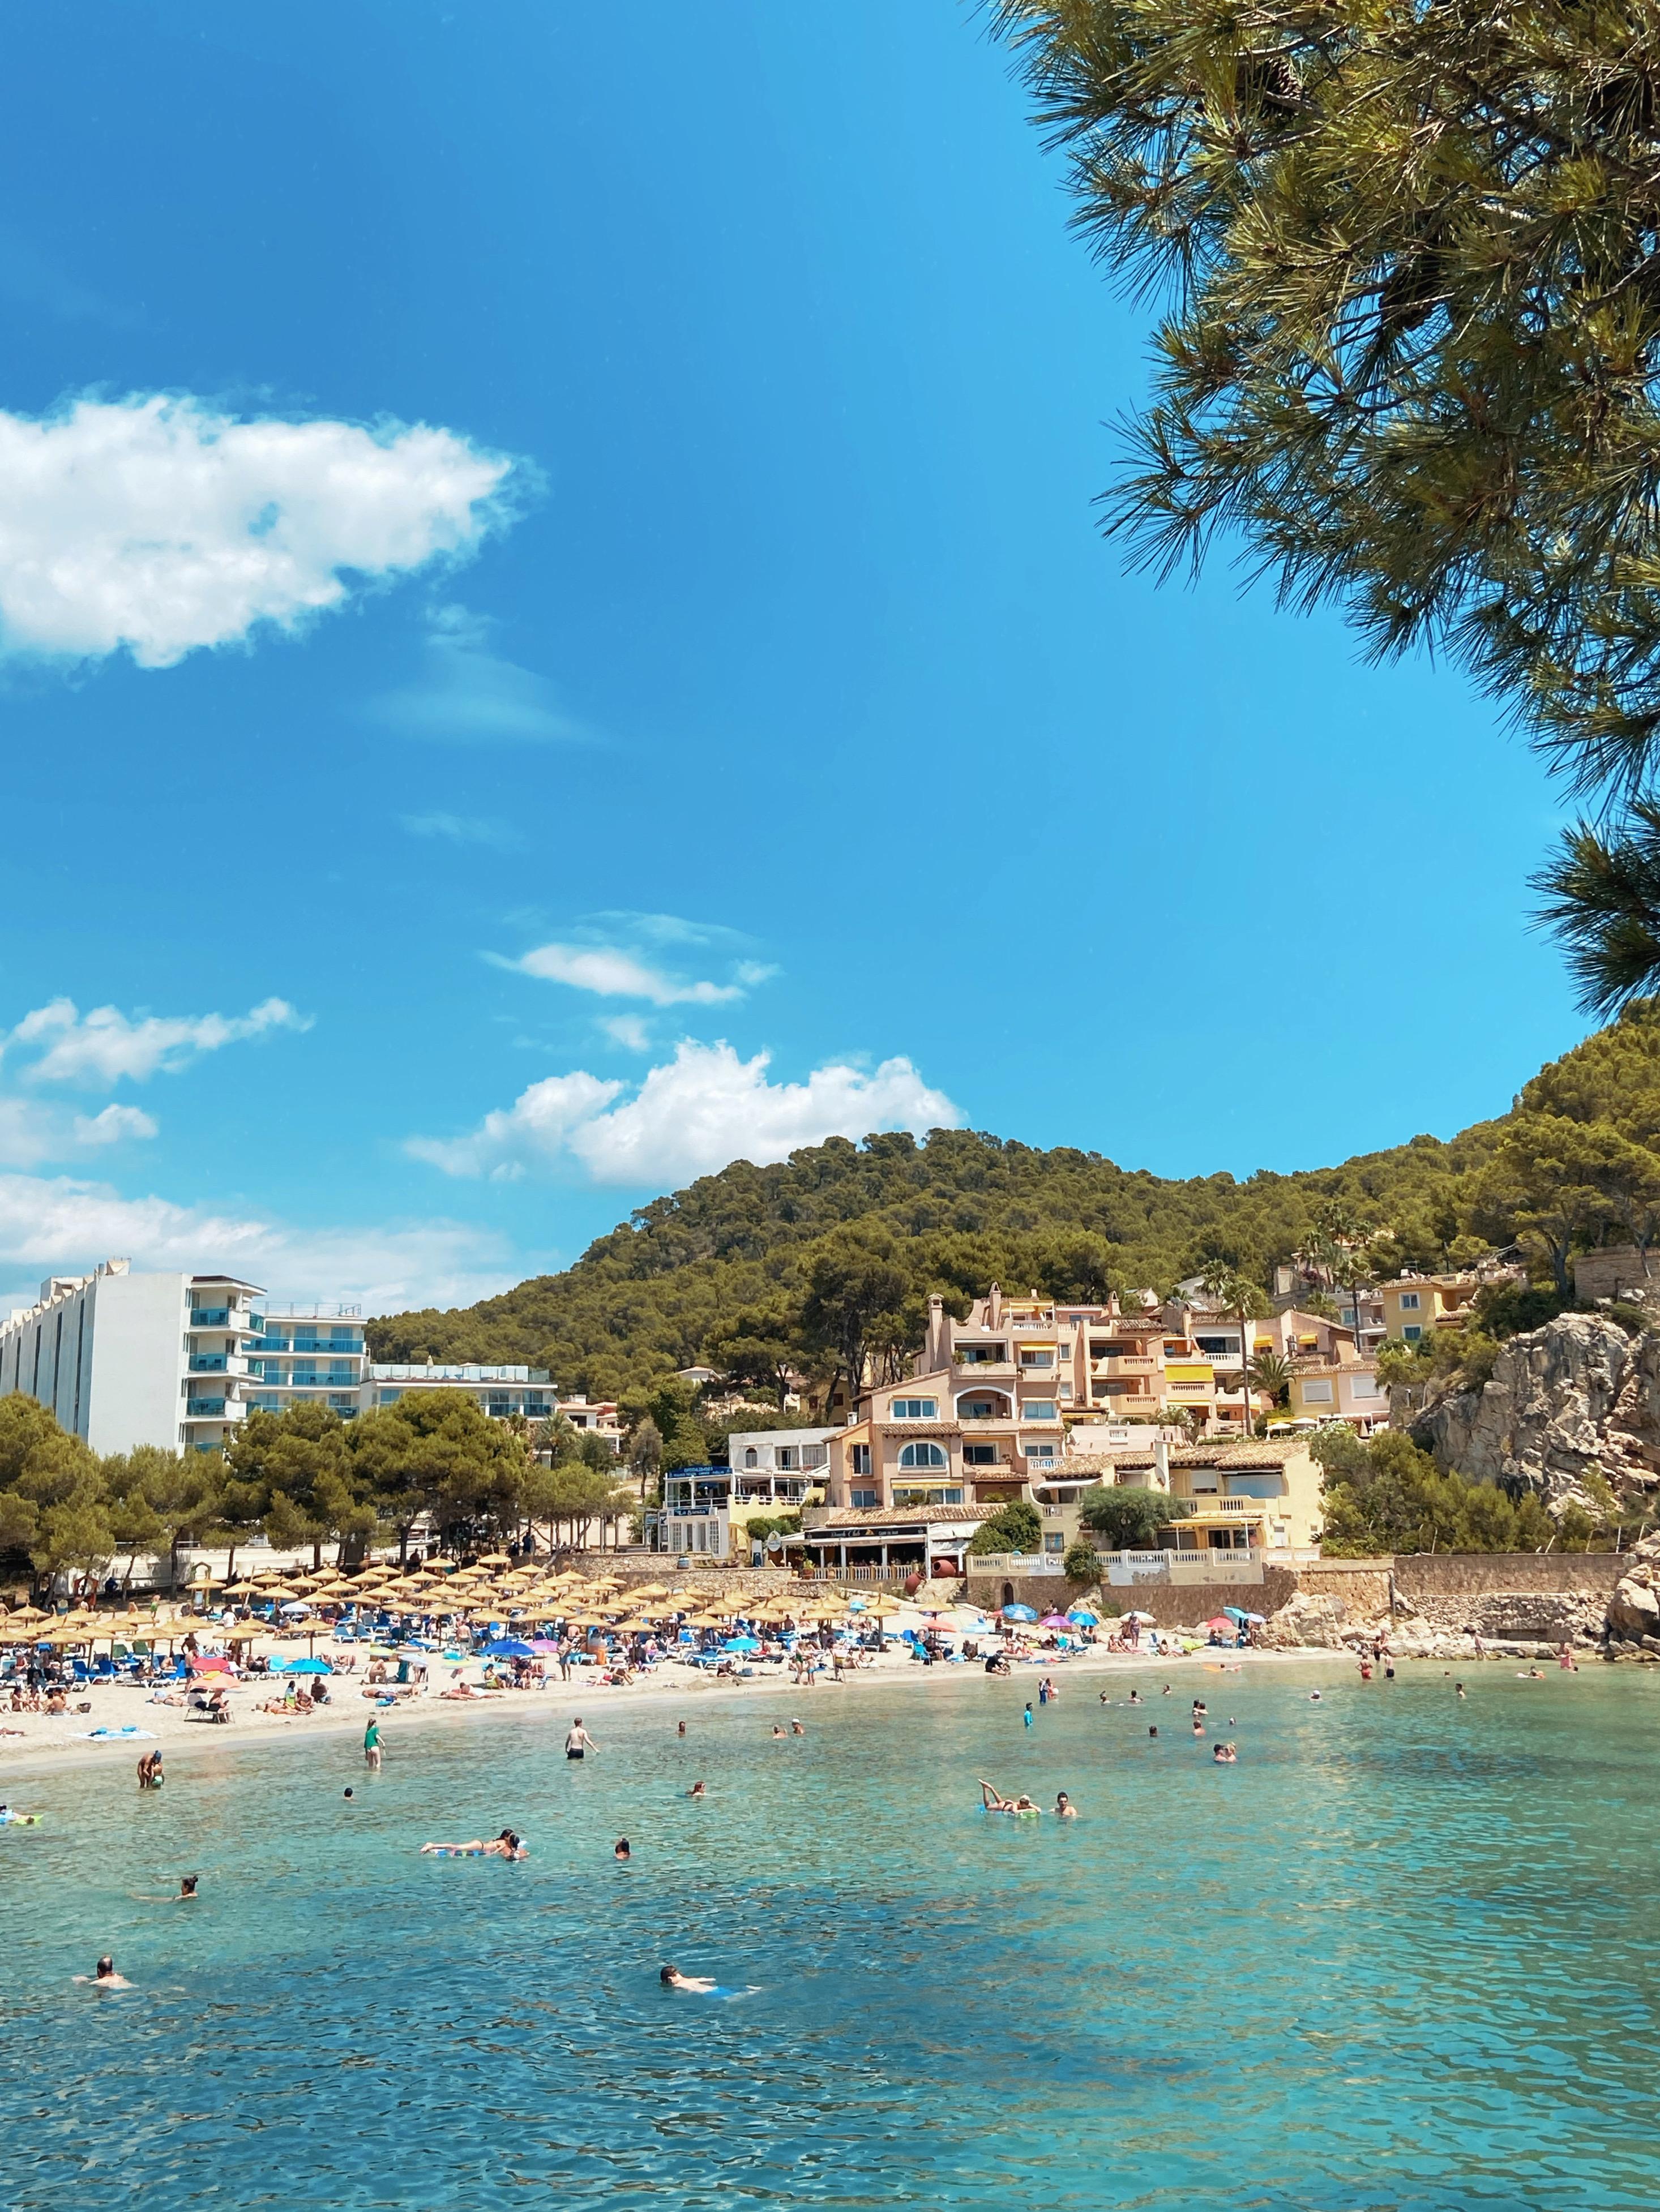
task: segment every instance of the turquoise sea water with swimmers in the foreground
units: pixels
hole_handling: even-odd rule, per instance
[[[1031,1681],[936,1670],[589,1697],[580,1767],[549,1697],[394,1721],[378,1778],[286,1736],[155,1798],[11,1783],[49,1825],[0,1829],[0,2203],[1647,2212],[1660,1683],[1162,1681],[1031,1732]],[[505,1823],[529,1863],[416,1856]],[[73,1986],[100,1949],[131,1993]]]

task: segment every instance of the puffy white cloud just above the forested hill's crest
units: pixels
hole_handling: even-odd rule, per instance
[[[668,1188],[733,1159],[788,1159],[826,1137],[876,1128],[956,1128],[958,1108],[930,1091],[910,1060],[874,1073],[830,1062],[803,1084],[770,1084],[768,1053],[739,1060],[730,1044],[686,1040],[633,1097],[595,1075],[549,1075],[469,1137],[412,1137],[407,1150],[445,1175],[518,1177],[575,1159],[595,1183]]]

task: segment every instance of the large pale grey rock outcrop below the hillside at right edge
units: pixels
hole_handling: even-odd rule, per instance
[[[1417,1409],[1414,1442],[1479,1482],[1527,1484],[1547,1504],[1660,1482],[1660,1329],[1638,1338],[1600,1314],[1558,1314],[1512,1336],[1481,1389]]]

